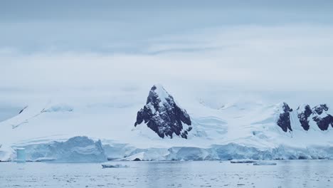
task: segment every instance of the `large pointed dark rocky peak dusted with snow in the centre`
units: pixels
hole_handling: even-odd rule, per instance
[[[147,104],[137,113],[137,122],[139,124],[147,123],[147,126],[154,130],[159,137],[164,138],[173,134],[187,139],[191,131],[191,118],[186,110],[181,109],[174,102],[174,98],[164,90],[162,85],[154,85],[149,92]],[[183,123],[189,125],[184,129]]]

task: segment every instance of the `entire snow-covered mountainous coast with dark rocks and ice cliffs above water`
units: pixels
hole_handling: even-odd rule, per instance
[[[23,104],[0,122],[0,160],[14,160],[17,147],[28,160],[58,162],[333,159],[331,101],[289,105],[212,89],[154,85]]]

